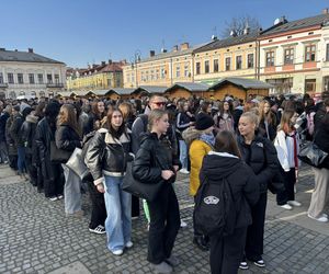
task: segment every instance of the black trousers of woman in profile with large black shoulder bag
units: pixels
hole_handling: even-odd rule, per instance
[[[159,264],[171,255],[180,228],[179,204],[172,185],[164,185],[159,197],[154,202],[148,202],[148,207],[150,226],[147,260]]]

